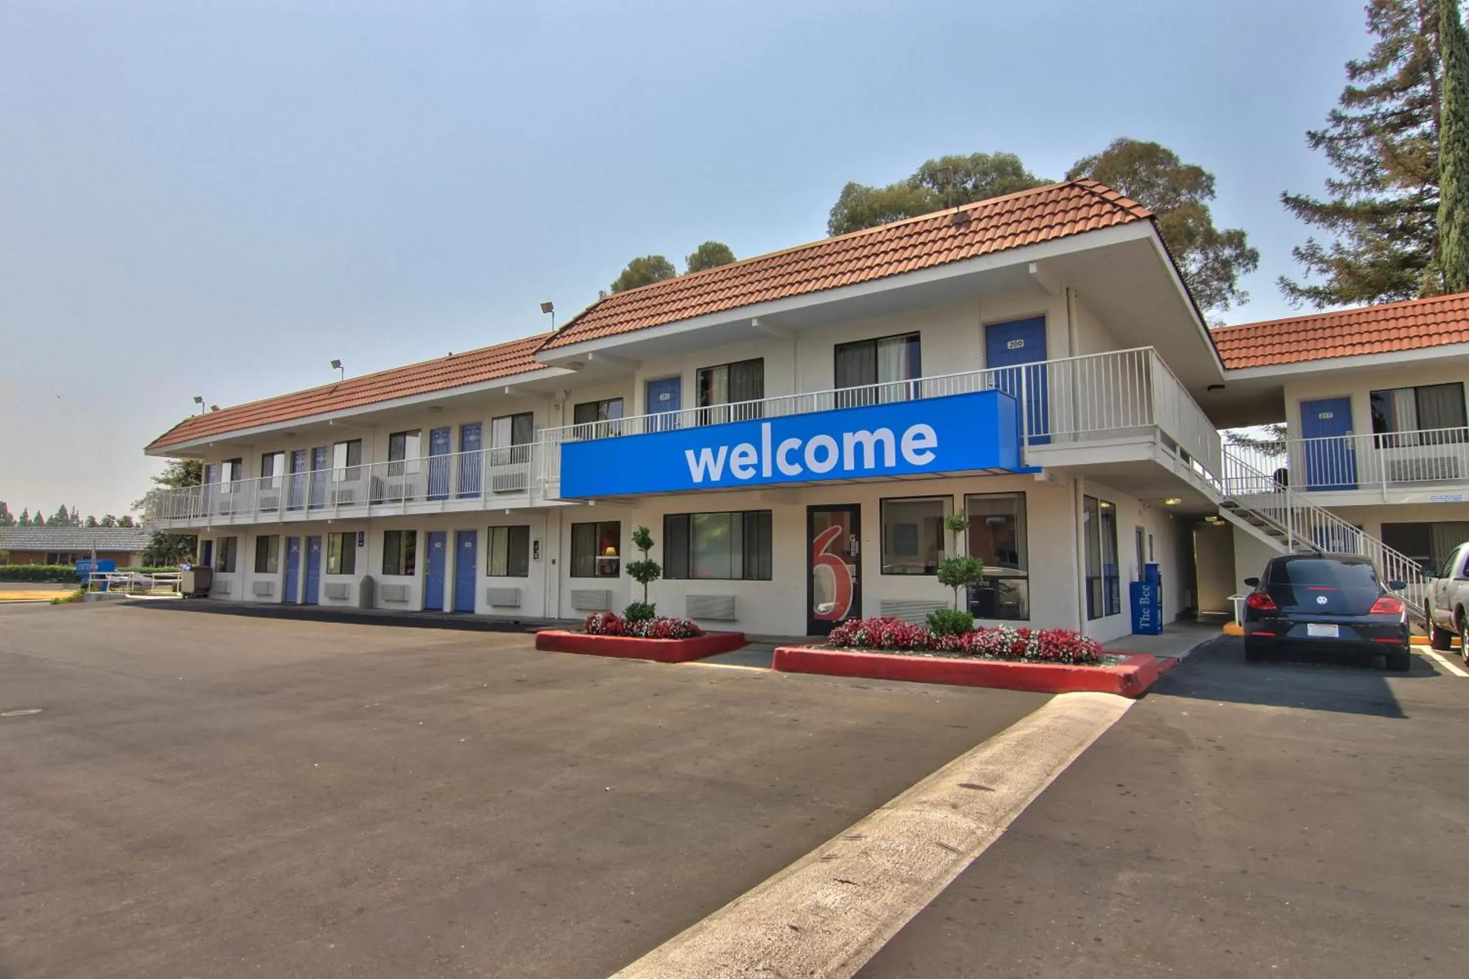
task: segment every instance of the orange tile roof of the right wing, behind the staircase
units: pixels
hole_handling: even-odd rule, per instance
[[[1227,370],[1469,343],[1469,292],[1212,330]]]

